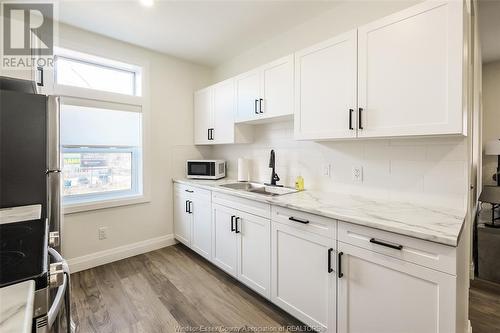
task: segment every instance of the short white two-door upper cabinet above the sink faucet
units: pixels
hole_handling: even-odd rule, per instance
[[[235,81],[237,122],[293,114],[293,55],[242,74]]]

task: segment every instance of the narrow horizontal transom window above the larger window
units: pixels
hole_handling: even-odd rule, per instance
[[[141,95],[141,69],[101,57],[57,49],[55,83],[116,94]]]

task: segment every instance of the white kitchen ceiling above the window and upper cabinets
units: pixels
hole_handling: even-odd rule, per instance
[[[330,9],[334,1],[59,2],[60,21],[216,66]]]

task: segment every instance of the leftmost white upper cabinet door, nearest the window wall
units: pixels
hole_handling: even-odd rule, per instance
[[[194,93],[194,143],[210,144],[208,130],[212,128],[213,95],[208,87]]]

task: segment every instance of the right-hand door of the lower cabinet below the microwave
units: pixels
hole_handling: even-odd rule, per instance
[[[195,189],[192,194],[193,237],[191,248],[207,259],[212,256],[212,193]]]

